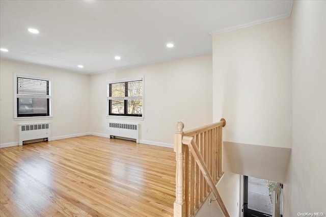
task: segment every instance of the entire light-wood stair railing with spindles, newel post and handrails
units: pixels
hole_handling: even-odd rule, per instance
[[[210,194],[217,199],[225,216],[229,216],[216,189],[222,172],[222,127],[226,121],[183,132],[177,123],[174,135],[176,152],[176,200],[174,216],[194,216]],[[198,144],[198,145],[197,145]]]

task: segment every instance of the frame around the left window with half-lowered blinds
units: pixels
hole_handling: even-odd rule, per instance
[[[17,79],[18,77],[28,79],[46,80],[49,83],[49,95],[47,98],[47,115],[39,114],[25,114],[18,115],[18,94],[17,94]],[[20,119],[48,119],[53,117],[53,103],[52,103],[52,79],[43,76],[27,75],[27,74],[14,74],[14,120]]]

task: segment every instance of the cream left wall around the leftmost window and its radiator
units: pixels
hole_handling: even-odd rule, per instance
[[[52,78],[53,118],[14,120],[14,74]],[[1,60],[0,144],[18,144],[18,124],[50,122],[52,138],[89,132],[89,75]]]

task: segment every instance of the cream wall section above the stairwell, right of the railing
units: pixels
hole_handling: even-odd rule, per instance
[[[224,141],[291,147],[290,18],[214,35],[213,121]]]

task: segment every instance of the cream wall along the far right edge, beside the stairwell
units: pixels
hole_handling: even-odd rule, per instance
[[[294,1],[293,130],[284,216],[326,212],[326,1]]]

